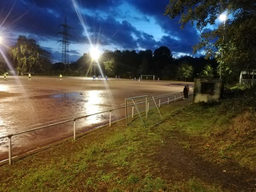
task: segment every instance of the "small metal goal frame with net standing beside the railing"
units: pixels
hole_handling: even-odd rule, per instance
[[[139,96],[125,99],[126,125],[136,125],[140,119],[145,128],[163,121],[153,96]]]

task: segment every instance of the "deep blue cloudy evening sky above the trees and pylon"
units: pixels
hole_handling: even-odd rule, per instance
[[[0,35],[11,46],[18,35],[33,38],[61,61],[62,38],[56,35],[64,23],[70,34],[70,61],[89,52],[90,43],[99,49],[135,49],[166,46],[175,57],[192,55],[200,33],[191,24],[180,29],[179,18],[164,16],[169,0],[1,0]],[[200,56],[197,53],[192,56]]]

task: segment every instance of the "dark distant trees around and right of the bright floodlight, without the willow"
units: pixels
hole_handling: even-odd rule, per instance
[[[94,75],[94,64],[90,54],[86,53],[74,63],[74,67],[82,73]],[[217,77],[217,63],[215,59],[204,57],[194,58],[183,56],[173,58],[168,47],[151,50],[115,50],[103,52],[99,59],[99,66],[106,76],[120,76],[122,78],[140,77],[140,75],[154,75],[163,80],[189,80],[196,77]],[[96,68],[98,64],[96,64]],[[100,75],[96,73],[96,76]]]

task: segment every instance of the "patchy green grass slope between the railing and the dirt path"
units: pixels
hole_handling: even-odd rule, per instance
[[[143,128],[140,119],[132,127],[119,122],[1,166],[0,191],[221,191],[225,186],[175,166],[172,174],[168,164],[159,162],[177,140],[178,150],[201,154],[206,161],[232,160],[256,170],[255,129],[250,123],[239,128],[253,120],[254,104],[235,99],[231,107],[226,102],[230,99],[217,105],[163,106],[164,122],[154,128]],[[245,108],[247,113],[238,113]]]

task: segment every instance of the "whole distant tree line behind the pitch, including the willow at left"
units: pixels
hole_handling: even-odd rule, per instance
[[[140,75],[154,75],[163,80],[193,81],[195,77],[217,77],[217,62],[215,59],[204,57],[194,58],[183,56],[174,58],[168,47],[159,47],[151,50],[106,50],[101,57],[93,61],[89,53],[84,53],[77,61],[65,66],[58,62],[52,64],[52,55],[42,49],[35,40],[20,35],[15,46],[9,50],[9,59],[16,70],[26,74],[46,73],[63,75],[101,75],[121,78],[139,77]],[[7,69],[3,58],[0,57],[0,71]]]

